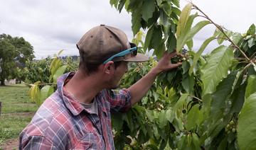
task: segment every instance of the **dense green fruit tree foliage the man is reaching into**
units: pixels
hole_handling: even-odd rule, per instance
[[[183,61],[182,67],[160,74],[138,105],[126,114],[114,114],[116,147],[247,149],[249,146],[255,149],[252,144],[255,138],[246,136],[255,134],[254,115],[248,115],[253,113],[255,101],[255,25],[242,35],[213,23],[191,3],[179,11],[178,1],[156,0],[154,6],[150,1],[148,7],[144,5],[145,0],[122,2],[132,13],[134,35],[140,28],[148,29],[144,52],[153,49],[159,59],[165,50],[172,52],[176,48],[181,53],[187,45],[189,51],[171,59],[173,63]],[[118,8],[120,3],[117,0],[114,6]],[[191,9],[197,13],[191,15]],[[204,16],[206,21],[192,27],[198,16]],[[193,36],[210,23],[216,26],[215,33],[193,52]],[[202,56],[213,40],[219,46]],[[224,41],[230,45],[221,45]],[[136,82],[156,63],[156,59],[150,59],[145,64],[131,64],[122,86]]]

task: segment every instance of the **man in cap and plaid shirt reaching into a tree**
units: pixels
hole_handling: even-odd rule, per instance
[[[114,149],[110,110],[126,111],[151,87],[175,53],[165,53],[155,68],[118,93],[127,62],[145,62],[144,54],[117,28],[100,25],[77,44],[80,65],[76,73],[58,79],[58,90],[46,99],[20,135],[19,149]]]

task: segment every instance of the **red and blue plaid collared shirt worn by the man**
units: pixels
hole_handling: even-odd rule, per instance
[[[64,74],[58,79],[57,91],[21,132],[19,149],[114,149],[110,110],[128,110],[129,91],[102,90],[95,96],[99,110],[96,115],[63,89],[73,75]]]

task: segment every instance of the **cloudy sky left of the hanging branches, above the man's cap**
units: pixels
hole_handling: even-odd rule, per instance
[[[90,28],[107,24],[121,28],[132,39],[131,17],[109,1],[1,1],[0,33],[22,36],[34,47],[36,58],[78,54],[76,42]]]

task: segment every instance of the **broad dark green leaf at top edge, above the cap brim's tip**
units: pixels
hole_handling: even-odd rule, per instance
[[[155,10],[154,0],[144,0],[142,6],[142,18],[144,21],[148,21],[153,16]]]

